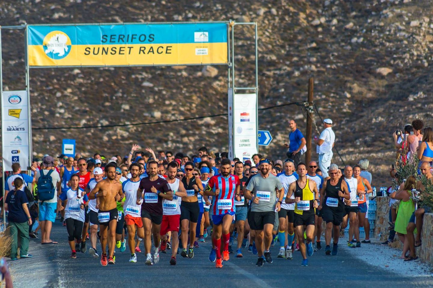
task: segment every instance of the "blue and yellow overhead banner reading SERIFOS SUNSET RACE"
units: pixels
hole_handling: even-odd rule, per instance
[[[29,66],[227,63],[226,23],[29,25]]]

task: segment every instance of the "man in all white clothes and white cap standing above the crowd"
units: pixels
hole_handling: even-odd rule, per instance
[[[332,149],[335,143],[335,133],[332,130],[332,120],[326,118],[323,120],[325,130],[320,133],[319,139],[316,140],[317,154],[319,154],[319,167],[322,171],[322,177],[328,177],[328,168],[332,161]]]

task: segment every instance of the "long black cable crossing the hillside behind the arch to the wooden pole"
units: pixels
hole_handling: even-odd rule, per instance
[[[301,105],[303,102],[291,102],[286,104],[280,104],[275,106],[270,106],[266,108],[260,108],[259,111],[265,111],[272,108],[278,108],[283,106],[289,106],[289,105]],[[111,125],[94,125],[94,126],[69,126],[69,127],[32,127],[32,130],[61,130],[61,129],[88,129],[88,128],[107,128],[107,127],[125,127],[125,126],[139,126],[139,125],[149,125],[149,124],[159,124],[159,123],[171,123],[171,122],[179,122],[179,121],[189,121],[189,120],[197,120],[197,119],[203,119],[203,118],[210,118],[210,117],[220,117],[220,116],[227,116],[227,113],[221,113],[221,114],[213,114],[213,115],[206,115],[206,116],[197,116],[197,117],[190,117],[190,118],[184,118],[184,119],[174,119],[174,120],[160,120],[160,121],[153,121],[153,122],[141,122],[141,123],[132,123],[132,124],[111,124]]]

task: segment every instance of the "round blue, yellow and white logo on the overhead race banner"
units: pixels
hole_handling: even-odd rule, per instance
[[[49,32],[42,42],[44,52],[48,57],[59,60],[68,56],[71,52],[71,39],[65,32]]]

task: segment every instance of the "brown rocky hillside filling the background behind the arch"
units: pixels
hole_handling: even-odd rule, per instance
[[[63,1],[62,1],[63,2]],[[304,101],[314,77],[315,103],[331,117],[343,160],[367,157],[376,185],[387,182],[391,133],[422,118],[431,125],[433,39],[429,0],[0,2],[0,25],[82,22],[256,21],[259,23],[259,107]],[[253,81],[253,30],[235,27],[236,81]],[[24,89],[22,31],[3,31],[4,89]],[[216,70],[212,69],[216,68]],[[33,127],[128,124],[226,112],[227,71],[218,67],[31,70]],[[297,106],[259,112],[274,137],[260,152],[284,158],[284,125]],[[320,119],[315,116],[320,130]],[[281,125],[283,123],[283,125]],[[126,153],[139,142],[154,149],[227,149],[226,117],[129,127],[34,130],[37,153],[57,153],[62,138],[83,152]],[[55,151],[55,152],[53,152]],[[313,155],[315,157],[315,155]],[[336,163],[342,164],[338,156]],[[382,177],[385,176],[385,177]]]

